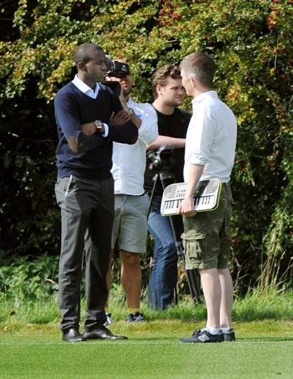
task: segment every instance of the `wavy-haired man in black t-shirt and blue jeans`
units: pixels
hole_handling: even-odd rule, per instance
[[[155,101],[152,103],[157,111],[159,137],[148,146],[148,150],[156,150],[165,145],[174,147],[174,151],[161,152],[161,157],[167,154],[169,167],[150,170],[147,164],[145,170],[145,191],[153,193],[148,230],[155,240],[154,263],[150,277],[148,292],[148,307],[164,310],[170,304],[177,302],[177,261],[178,254],[174,232],[169,217],[160,213],[162,202],[162,182],[153,180],[162,171],[173,173],[176,182],[183,182],[185,135],[188,128],[190,113],[177,108],[183,102],[184,88],[178,67],[165,65],[152,75],[152,93]],[[174,181],[174,180],[173,180]],[[169,184],[169,183],[167,183]],[[155,185],[155,187],[154,187]],[[154,190],[154,191],[153,191]],[[176,224],[176,235],[183,232],[182,216],[172,216]]]

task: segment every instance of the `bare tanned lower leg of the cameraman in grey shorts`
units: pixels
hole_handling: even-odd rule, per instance
[[[129,308],[139,309],[141,303],[141,254],[121,250],[121,282]]]

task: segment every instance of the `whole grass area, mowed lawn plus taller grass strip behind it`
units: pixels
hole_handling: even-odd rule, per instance
[[[0,302],[0,379],[293,378],[293,292],[254,290],[235,298],[236,342],[180,344],[205,325],[204,304],[190,297],[145,323],[127,323],[121,299],[110,303],[110,330],[125,341],[61,340],[58,300]],[[82,302],[82,318],[85,304]]]

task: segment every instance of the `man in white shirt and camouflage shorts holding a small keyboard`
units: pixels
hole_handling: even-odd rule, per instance
[[[186,93],[194,99],[185,144],[184,180],[188,185],[178,213],[184,215],[186,268],[199,270],[207,304],[207,325],[180,342],[233,341],[233,282],[228,268],[233,197],[228,182],[235,158],[237,125],[233,112],[212,90],[214,60],[207,54],[194,53],[185,57],[180,67]],[[214,178],[222,183],[219,207],[196,213],[193,194],[198,182]]]

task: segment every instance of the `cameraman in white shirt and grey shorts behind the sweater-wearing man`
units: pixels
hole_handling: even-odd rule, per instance
[[[125,61],[119,60],[121,63]],[[120,76],[120,75],[119,75]],[[157,113],[148,103],[135,103],[129,94],[132,75],[108,77],[107,80],[120,82],[120,100],[124,111],[138,128],[138,140],[125,149],[124,144],[113,144],[112,175],[115,180],[115,221],[112,234],[112,256],[118,241],[122,259],[121,282],[126,294],[128,321],[142,322],[141,302],[141,254],[146,251],[148,236],[147,218],[149,199],[143,188],[146,165],[146,147],[158,136]],[[129,145],[130,147],[130,145]],[[112,268],[108,271],[108,288],[111,287]],[[111,313],[106,304],[108,324],[112,323]]]

